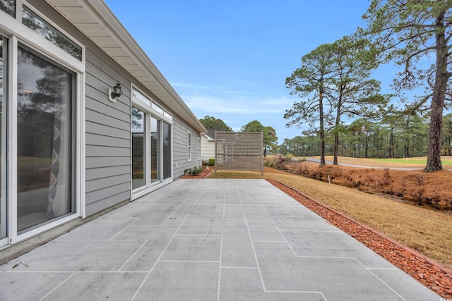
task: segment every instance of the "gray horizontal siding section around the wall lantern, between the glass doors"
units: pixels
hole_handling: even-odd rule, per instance
[[[119,80],[124,94],[113,103],[108,87]],[[93,51],[86,51],[85,203],[86,214],[131,197],[130,82]]]

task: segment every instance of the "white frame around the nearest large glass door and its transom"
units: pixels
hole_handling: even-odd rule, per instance
[[[57,45],[48,41],[44,37],[41,37],[39,34],[31,30],[22,24],[22,4],[25,4],[30,10],[34,11],[41,18],[46,20],[49,24],[54,26],[61,33],[66,35],[69,39],[72,39],[73,42],[76,42],[79,46],[82,47],[82,60],[71,56],[71,54],[67,53]],[[17,178],[17,128],[16,124],[18,121],[17,116],[17,68],[18,68],[18,44],[25,45],[26,47],[30,47],[38,54],[44,56],[49,61],[53,61],[64,68],[67,68],[74,73],[76,73],[76,87],[75,94],[76,98],[73,99],[73,102],[76,102],[75,105],[75,115],[76,121],[74,121],[73,125],[76,126],[76,137],[73,139],[76,140],[76,167],[75,171],[73,171],[74,176],[76,177],[76,185],[74,187],[75,194],[72,199],[72,202],[76,203],[76,211],[69,215],[65,216],[62,219],[58,219],[57,221],[53,221],[52,223],[47,223],[38,228],[32,229],[25,233],[21,233],[18,235],[17,233],[17,181],[11,180],[8,181],[7,193],[8,193],[8,214],[7,214],[7,235],[8,235],[8,244],[13,245],[16,242],[20,242],[21,240],[25,240],[27,238],[31,238],[37,234],[40,234],[44,231],[47,231],[51,228],[59,226],[61,224],[67,223],[73,219],[78,217],[85,218],[85,47],[83,44],[78,42],[76,39],[71,37],[67,32],[65,32],[61,27],[56,25],[49,20],[46,16],[42,15],[40,11],[37,11],[31,4],[26,1],[16,1],[16,18],[12,18],[4,11],[0,11],[0,29],[2,29],[2,33],[4,32],[4,36],[8,38],[8,178]],[[6,247],[6,245],[0,245],[1,247]]]

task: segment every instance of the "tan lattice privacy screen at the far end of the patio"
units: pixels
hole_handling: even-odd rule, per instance
[[[263,133],[215,131],[215,173],[217,171],[261,171]]]

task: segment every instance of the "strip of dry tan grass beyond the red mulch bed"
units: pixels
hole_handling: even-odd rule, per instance
[[[392,171],[391,171],[392,172]],[[390,238],[452,268],[452,216],[393,199],[328,184],[292,173],[264,168],[252,171],[218,171],[210,178],[275,179],[350,216]]]

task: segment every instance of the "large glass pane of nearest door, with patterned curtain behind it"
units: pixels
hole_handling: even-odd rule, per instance
[[[75,211],[71,143],[75,78],[18,48],[18,231]]]

